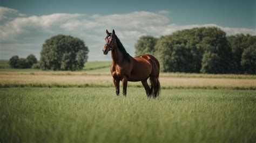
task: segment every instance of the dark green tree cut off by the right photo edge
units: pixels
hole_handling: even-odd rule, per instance
[[[242,52],[241,66],[247,74],[256,74],[256,44]]]

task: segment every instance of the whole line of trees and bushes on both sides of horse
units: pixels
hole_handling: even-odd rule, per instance
[[[135,49],[136,55],[156,55],[164,72],[256,74],[256,36],[227,36],[218,27],[181,30],[160,38],[145,35],[137,40]],[[59,34],[45,40],[39,62],[31,54],[26,59],[12,56],[9,65],[80,70],[88,53],[83,40]]]

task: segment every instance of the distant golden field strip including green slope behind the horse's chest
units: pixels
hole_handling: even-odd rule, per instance
[[[3,63],[3,62],[2,62]],[[80,71],[0,69],[0,87],[113,87],[111,62],[86,62]],[[256,89],[256,75],[160,73],[164,89]],[[142,87],[129,82],[129,87]]]

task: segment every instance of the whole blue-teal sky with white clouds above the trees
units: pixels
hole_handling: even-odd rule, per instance
[[[134,55],[134,44],[142,35],[160,37],[208,26],[227,35],[256,35],[256,1],[0,0],[0,59],[29,54],[39,59],[46,39],[66,34],[85,42],[89,61],[110,61],[110,54],[102,52],[106,29],[114,29]]]

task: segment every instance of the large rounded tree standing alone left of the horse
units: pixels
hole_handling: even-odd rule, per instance
[[[82,69],[89,50],[84,41],[70,35],[56,35],[45,40],[41,51],[41,68],[52,70]]]

